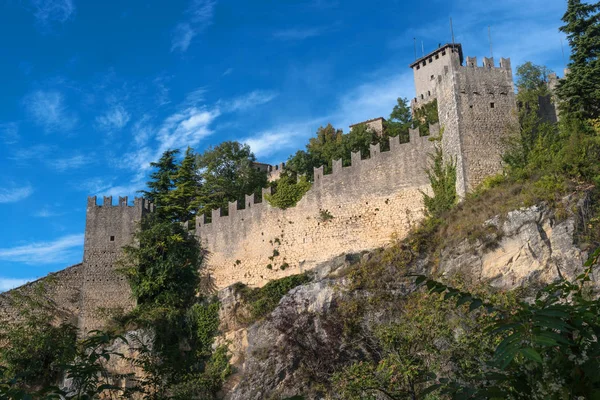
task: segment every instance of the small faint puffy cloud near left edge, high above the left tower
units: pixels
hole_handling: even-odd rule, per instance
[[[33,121],[46,132],[70,131],[78,122],[77,116],[65,105],[65,99],[57,90],[37,90],[24,99],[25,108]]]

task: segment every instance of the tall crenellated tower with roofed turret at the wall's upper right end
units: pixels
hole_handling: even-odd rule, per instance
[[[410,65],[417,97],[413,110],[435,99],[443,129],[442,146],[456,159],[460,197],[501,170],[504,140],[517,127],[510,59],[463,59],[462,46],[446,44]],[[465,64],[465,65],[463,65]]]

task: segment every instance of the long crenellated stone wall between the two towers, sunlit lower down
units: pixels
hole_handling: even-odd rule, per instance
[[[431,127],[431,135],[438,132]],[[420,191],[429,188],[425,167],[432,150],[428,137],[411,130],[410,142],[392,138],[390,151],[373,145],[370,158],[355,153],[349,167],[334,161],[330,175],[315,169],[313,187],[295,207],[281,210],[247,196],[243,205],[231,203],[227,216],[215,210],[210,223],[197,218],[214,284],[261,286],[405,236],[423,216]]]

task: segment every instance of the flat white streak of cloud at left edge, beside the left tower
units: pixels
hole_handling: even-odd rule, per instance
[[[72,260],[83,246],[83,234],[67,235],[51,242],[34,242],[0,248],[0,260],[24,264],[53,264]]]

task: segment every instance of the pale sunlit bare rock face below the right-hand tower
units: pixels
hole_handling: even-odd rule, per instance
[[[574,278],[585,261],[586,252],[575,243],[577,218],[557,219],[544,206],[532,206],[495,217],[500,240],[490,248],[482,241],[467,240],[443,252],[440,271],[462,273],[502,289],[531,282]]]

